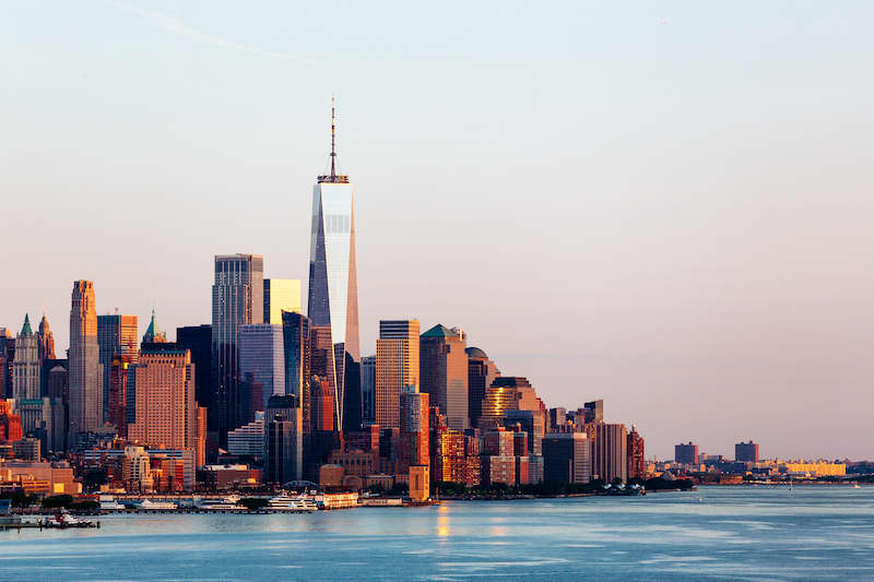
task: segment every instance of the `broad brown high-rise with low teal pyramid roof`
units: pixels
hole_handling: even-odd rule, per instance
[[[452,430],[470,428],[465,344],[464,332],[439,324],[420,337],[420,390],[430,395]]]

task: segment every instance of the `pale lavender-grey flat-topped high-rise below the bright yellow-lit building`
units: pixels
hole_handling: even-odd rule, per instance
[[[281,324],[251,323],[239,330],[240,414],[251,423],[270,396],[285,395],[285,351]]]

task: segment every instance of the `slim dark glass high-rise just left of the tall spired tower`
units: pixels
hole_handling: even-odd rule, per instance
[[[310,368],[310,320],[294,311],[282,312],[283,352],[285,354],[285,395],[294,395],[302,408],[302,430],[308,435],[312,428],[310,406],[312,394]]]

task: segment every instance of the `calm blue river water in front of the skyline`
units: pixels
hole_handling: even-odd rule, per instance
[[[874,579],[874,487],[704,487],[0,533],[0,580]]]

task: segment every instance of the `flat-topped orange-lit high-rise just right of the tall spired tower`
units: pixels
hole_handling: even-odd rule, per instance
[[[418,320],[382,320],[376,341],[376,424],[400,428],[401,392],[418,389]]]

